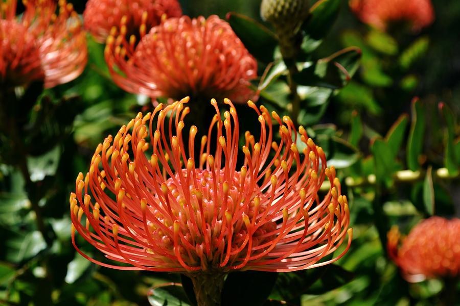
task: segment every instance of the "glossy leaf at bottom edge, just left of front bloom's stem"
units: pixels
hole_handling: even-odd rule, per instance
[[[191,306],[182,286],[176,283],[153,287],[147,298],[152,306]]]

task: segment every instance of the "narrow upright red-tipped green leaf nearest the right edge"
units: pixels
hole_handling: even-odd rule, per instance
[[[453,112],[450,108],[445,105],[444,103],[439,104],[440,111],[443,114],[444,120],[446,122],[447,131],[445,135],[445,147],[446,153],[444,156],[444,165],[449,171],[449,174],[455,176],[460,172],[459,165],[460,163],[457,161],[457,156],[455,152],[455,117]]]

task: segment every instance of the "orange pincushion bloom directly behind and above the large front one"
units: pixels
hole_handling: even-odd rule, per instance
[[[107,39],[108,67],[126,91],[152,98],[257,98],[249,89],[257,62],[226,21],[182,16],[163,21],[147,35],[143,29],[139,44],[134,36],[126,40],[124,26]]]

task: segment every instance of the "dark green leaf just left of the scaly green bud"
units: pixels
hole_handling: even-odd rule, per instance
[[[256,59],[269,63],[278,46],[277,36],[254,19],[238,13],[228,13],[227,21],[233,31]]]

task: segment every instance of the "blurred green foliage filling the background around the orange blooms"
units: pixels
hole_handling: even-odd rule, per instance
[[[276,34],[259,17],[259,1],[181,3],[191,16],[225,18],[234,12],[227,20],[260,63],[262,78],[254,84],[259,103],[305,125],[328,164],[337,168],[350,201],[354,239],[336,264],[270,276],[233,273],[225,300],[439,303],[443,280],[406,283],[386,257],[385,244],[393,224],[407,233],[433,214],[460,216],[460,54],[455,51],[460,41],[452,30],[460,27],[460,3],[433,3],[436,21],[413,34],[378,32],[359,23],[346,2],[323,1],[301,29],[304,40],[295,63],[283,60]],[[75,4],[81,13],[83,2]],[[5,113],[18,135],[14,139],[5,130],[0,135],[0,304],[193,304],[183,302],[190,284],[178,275],[101,268],[70,243],[67,199],[75,177],[87,169],[106,135],[150,109],[148,98],[113,84],[103,48],[88,36],[89,63],[77,80],[44,92],[31,86],[17,96],[24,108]],[[298,85],[295,93],[290,77]],[[293,95],[300,103],[297,113]],[[420,98],[411,102],[415,96]],[[26,108],[24,101],[31,99],[37,103]],[[251,296],[254,292],[263,298]]]

